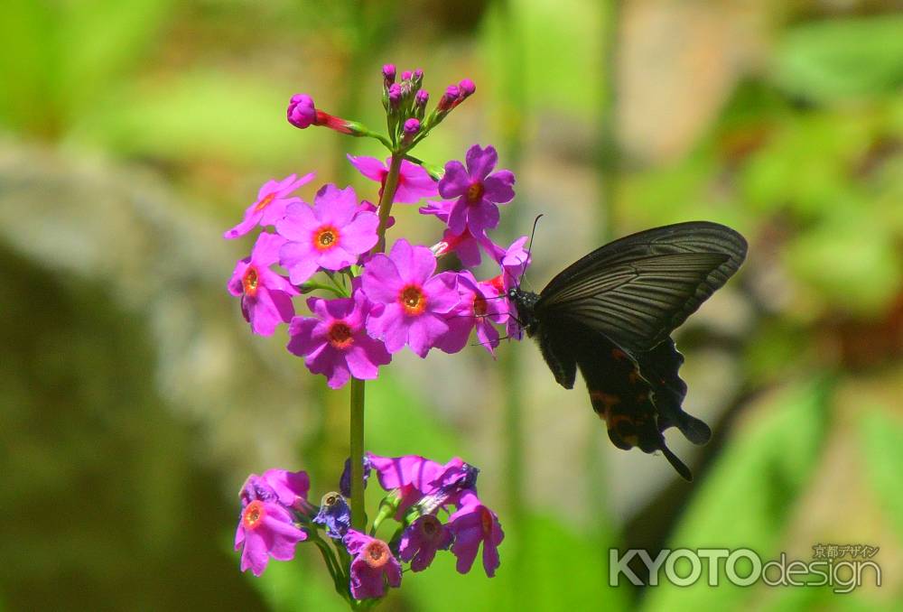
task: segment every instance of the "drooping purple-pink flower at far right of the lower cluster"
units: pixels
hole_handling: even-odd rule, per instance
[[[483,569],[492,578],[498,568],[498,544],[505,538],[498,524],[498,516],[472,492],[461,496],[457,512],[449,517],[449,527],[454,533],[452,553],[458,557],[457,570],[466,574],[477,558],[479,543],[483,543]]]

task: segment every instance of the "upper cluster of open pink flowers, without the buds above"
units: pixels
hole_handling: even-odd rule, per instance
[[[379,183],[381,194],[388,162],[353,156],[349,161]],[[437,184],[423,167],[403,161],[394,202],[426,199],[420,212],[439,218],[445,229],[432,247],[399,238],[387,255],[371,252],[379,239],[378,211],[352,188],[327,184],[309,204],[293,193],[312,174],[269,181],[225,237],[258,226],[275,227],[275,233],[257,237],[251,255],[237,262],[228,290],[240,297],[254,333],[272,335],[289,323],[288,350],[303,357],[312,373],[326,376],[332,388],[350,376],[376,378],[379,366],[405,347],[420,357],[431,348],[458,352],[473,330],[493,353],[497,326],[507,324],[508,334],[517,335],[507,288],[517,284],[528,258],[526,237],[505,248],[488,236],[498,226],[498,205],[514,198],[514,175],[495,171],[497,162],[493,147],[474,145],[465,163],[445,164]],[[437,258],[451,253],[465,266],[479,264],[485,253],[498,265],[498,275],[479,281],[466,268],[437,273]],[[324,280],[312,280],[315,274]],[[310,297],[311,316],[298,315],[293,299],[317,289],[334,297]]]

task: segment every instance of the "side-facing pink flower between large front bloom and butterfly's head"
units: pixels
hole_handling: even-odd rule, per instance
[[[448,332],[436,342],[436,348],[446,353],[457,353],[467,345],[470,330],[477,329],[479,343],[495,355],[498,347],[498,329],[493,323],[503,323],[507,319],[504,312],[499,311],[502,300],[498,290],[489,283],[478,283],[477,279],[465,270],[458,274],[458,294],[461,301],[445,316]]]

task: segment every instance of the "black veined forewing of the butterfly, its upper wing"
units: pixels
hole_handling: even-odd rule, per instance
[[[697,221],[620,238],[555,276],[536,303],[539,320],[579,320],[619,347],[656,347],[737,271],[746,241]]]

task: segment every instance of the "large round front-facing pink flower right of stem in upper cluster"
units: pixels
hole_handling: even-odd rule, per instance
[[[399,239],[391,253],[374,255],[363,274],[363,287],[374,303],[384,304],[372,311],[367,331],[386,343],[390,353],[405,347],[420,357],[433,348],[448,331],[444,315],[458,303],[454,274],[433,276],[436,258],[425,246],[411,246]]]

